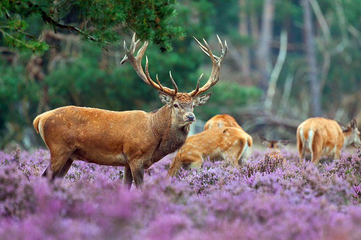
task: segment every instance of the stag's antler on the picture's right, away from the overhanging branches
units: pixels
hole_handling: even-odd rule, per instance
[[[202,51],[205,54],[207,54],[207,56],[212,61],[212,72],[211,72],[211,75],[209,76],[208,81],[203,85],[203,87],[199,88],[199,80],[203,76],[203,73],[202,73],[201,76],[198,78],[196,88],[192,92],[189,93],[192,97],[195,97],[195,96],[207,91],[210,87],[215,85],[218,82],[218,80],[220,79],[221,65],[222,65],[222,62],[223,62],[223,58],[227,54],[228,46],[227,46],[227,42],[225,41],[225,47],[223,47],[222,41],[221,41],[220,37],[217,35],[218,42],[219,42],[219,44],[221,46],[221,57],[217,57],[216,55],[213,55],[213,53],[211,51],[211,48],[209,47],[206,40],[204,40],[204,38],[203,38],[203,41],[204,41],[204,44],[206,46],[203,46],[202,43],[200,43],[197,40],[197,38],[195,38],[194,36],[193,36],[193,38],[198,42],[199,47],[202,49]]]

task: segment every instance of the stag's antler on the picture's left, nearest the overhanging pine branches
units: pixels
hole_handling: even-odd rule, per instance
[[[169,72],[169,75],[171,77],[171,81],[172,81],[174,90],[167,88],[167,87],[163,87],[162,84],[160,84],[160,82],[158,80],[158,74],[156,76],[158,84],[155,83],[150,78],[149,72],[148,72],[148,58],[146,56],[145,56],[145,73],[144,73],[144,71],[141,67],[141,59],[143,58],[145,49],[148,46],[148,41],[144,41],[143,46],[138,50],[138,53],[136,54],[136,56],[134,56],[136,44],[138,44],[138,42],[139,42],[139,39],[137,41],[135,41],[135,34],[134,34],[133,38],[132,38],[131,46],[128,50],[127,44],[124,41],[124,50],[126,51],[126,55],[124,56],[124,58],[120,62],[120,64],[123,64],[126,61],[128,61],[132,65],[133,69],[138,74],[138,76],[141,78],[141,80],[143,80],[143,82],[145,82],[146,84],[152,86],[153,88],[157,89],[158,91],[161,91],[169,96],[172,96],[172,97],[176,96],[178,93],[178,87],[177,87],[176,82],[173,80],[171,72]]]

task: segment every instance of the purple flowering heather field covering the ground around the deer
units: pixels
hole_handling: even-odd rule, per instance
[[[128,192],[120,167],[78,161],[49,183],[47,150],[0,152],[0,240],[360,240],[361,149],[317,166],[283,153],[173,178],[167,156]]]

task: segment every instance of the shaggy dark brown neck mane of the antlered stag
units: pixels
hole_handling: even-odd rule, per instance
[[[159,150],[169,154],[181,147],[188,136],[189,125],[179,126],[172,122],[172,110],[164,105],[150,116],[151,128],[159,141]]]

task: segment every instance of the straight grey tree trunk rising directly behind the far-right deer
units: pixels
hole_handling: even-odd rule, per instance
[[[321,116],[321,96],[319,93],[319,83],[317,79],[316,52],[312,29],[312,15],[309,0],[302,0],[304,9],[304,32],[307,63],[309,65],[310,93],[311,93],[311,115]]]

